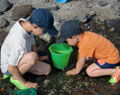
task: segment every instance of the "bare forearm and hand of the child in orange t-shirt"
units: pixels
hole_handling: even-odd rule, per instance
[[[67,75],[77,75],[80,73],[82,68],[84,67],[85,64],[85,57],[80,57],[79,60],[76,63],[76,68],[69,70],[66,74]]]

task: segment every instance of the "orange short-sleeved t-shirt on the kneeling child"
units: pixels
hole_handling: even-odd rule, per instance
[[[110,64],[120,61],[119,50],[105,37],[85,31],[78,43],[79,57],[94,57]]]

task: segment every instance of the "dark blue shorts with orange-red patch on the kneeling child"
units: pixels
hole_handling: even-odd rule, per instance
[[[116,64],[110,64],[110,63],[104,62],[103,60],[99,60],[99,59],[95,61],[95,64],[99,66],[100,68],[114,68],[116,66],[120,66],[120,62]]]

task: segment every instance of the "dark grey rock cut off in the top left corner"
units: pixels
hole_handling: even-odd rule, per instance
[[[0,0],[0,14],[11,8],[11,4],[7,0]]]

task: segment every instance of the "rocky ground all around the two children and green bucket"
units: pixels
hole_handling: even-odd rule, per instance
[[[64,4],[57,4],[54,0],[8,1],[0,1],[0,46],[10,27],[18,18],[29,16],[33,8],[47,8],[55,18],[55,27],[58,31],[64,21],[78,19],[84,23],[85,30],[103,35],[120,50],[120,0],[69,0]],[[36,41],[39,51],[46,50],[50,45],[38,37]],[[87,76],[85,69],[91,61],[87,62],[79,75],[66,76],[65,72],[75,66],[77,48],[73,48],[69,65],[64,71],[54,68],[50,60],[48,62],[52,66],[50,75],[26,74],[24,76],[27,80],[39,83],[38,95],[120,95],[119,83],[115,85],[108,83],[110,76],[99,78]],[[2,77],[2,74],[0,76]],[[9,79],[0,78],[0,95],[13,95],[15,89]]]

